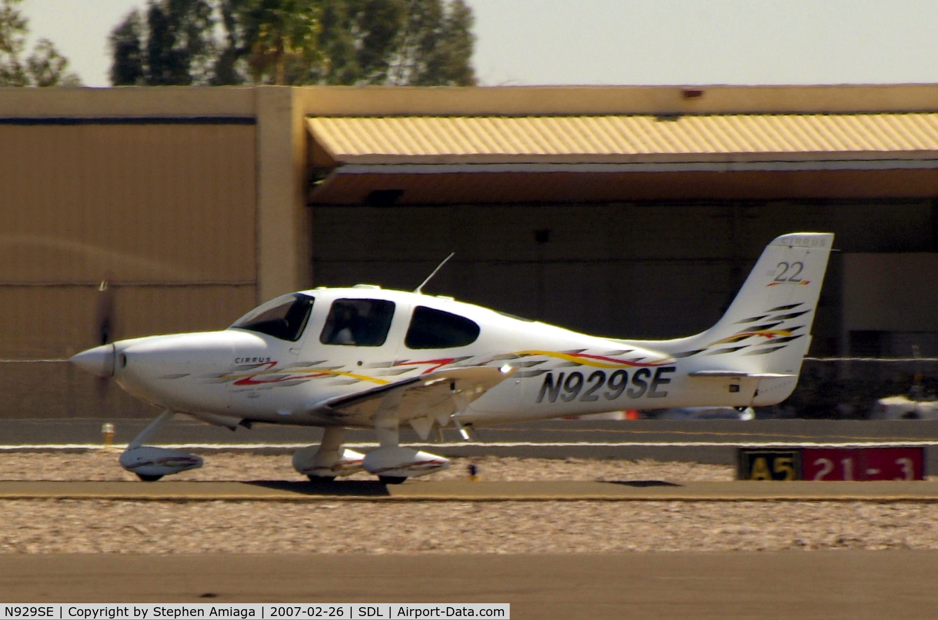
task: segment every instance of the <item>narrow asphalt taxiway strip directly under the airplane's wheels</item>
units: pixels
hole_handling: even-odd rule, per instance
[[[751,481],[659,480],[514,481],[413,480],[385,485],[374,480],[332,483],[257,480],[208,482],[165,480],[0,481],[0,499],[108,499],[151,501],[869,501],[938,502],[938,482],[926,481]]]

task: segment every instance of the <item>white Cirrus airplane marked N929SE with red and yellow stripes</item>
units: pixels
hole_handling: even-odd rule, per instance
[[[615,409],[783,401],[808,351],[833,239],[779,236],[717,325],[676,340],[587,336],[423,295],[423,284],[413,293],[357,284],[280,296],[222,331],[119,340],[70,361],[165,410],[120,458],[144,480],[202,465],[144,446],[184,413],[233,430],[323,427],[319,446],[294,455],[301,474],[364,469],[399,483],[449,466],[400,446],[404,424],[426,440],[443,428],[467,437],[467,428]],[[380,446],[343,449],[347,428],[374,429]]]

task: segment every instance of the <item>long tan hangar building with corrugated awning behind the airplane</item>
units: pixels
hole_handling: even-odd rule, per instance
[[[98,415],[25,360],[95,344],[102,280],[129,338],[450,251],[427,292],[668,338],[769,239],[832,231],[812,353],[938,355],[936,200],[932,84],[0,89],[0,415]]]

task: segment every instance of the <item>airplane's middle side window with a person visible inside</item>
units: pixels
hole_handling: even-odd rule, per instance
[[[325,319],[319,341],[380,347],[394,318],[394,302],[386,299],[336,299]]]

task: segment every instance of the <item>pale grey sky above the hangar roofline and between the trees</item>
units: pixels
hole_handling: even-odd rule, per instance
[[[467,0],[495,84],[938,83],[936,0]],[[91,86],[144,0],[25,0]]]

